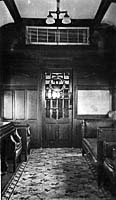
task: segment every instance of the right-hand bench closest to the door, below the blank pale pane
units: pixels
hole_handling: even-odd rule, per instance
[[[82,123],[82,155],[87,154],[96,167],[98,185],[102,182],[103,169],[103,139],[100,138],[98,128],[113,125],[113,121],[107,119],[86,119]]]

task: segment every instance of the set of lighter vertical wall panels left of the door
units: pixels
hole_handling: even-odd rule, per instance
[[[3,118],[37,120],[37,89],[4,90]]]

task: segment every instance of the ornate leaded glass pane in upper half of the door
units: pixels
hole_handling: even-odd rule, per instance
[[[45,73],[46,117],[68,118],[72,107],[70,73]]]

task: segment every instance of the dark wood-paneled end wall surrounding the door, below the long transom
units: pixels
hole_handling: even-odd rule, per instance
[[[116,43],[111,44],[112,50],[109,43],[105,45],[107,39],[103,38],[102,46],[97,41],[95,46],[67,46],[67,48],[63,46],[26,47],[23,44],[23,46],[15,46],[16,49],[14,48],[13,51],[10,50],[9,42],[2,62],[2,120],[24,120],[29,123],[32,146],[41,147],[42,73],[48,68],[54,68],[56,72],[59,68],[64,70],[70,68],[73,71],[72,146],[81,146],[80,126],[83,118],[87,116],[79,119],[77,114],[78,89],[111,89],[112,109],[116,110]],[[116,41],[114,33],[113,39]],[[7,45],[6,41],[5,44]]]

